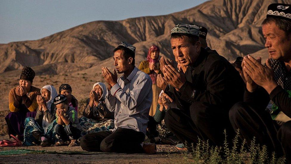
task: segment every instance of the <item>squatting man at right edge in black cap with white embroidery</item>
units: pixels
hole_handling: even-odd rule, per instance
[[[245,56],[242,62],[247,81],[244,102],[229,113],[233,128],[240,129],[248,143],[253,137],[268,150],[282,154],[291,163],[291,4],[270,4],[262,23],[270,59]],[[270,115],[271,114],[271,115]],[[281,142],[281,143],[280,143]]]

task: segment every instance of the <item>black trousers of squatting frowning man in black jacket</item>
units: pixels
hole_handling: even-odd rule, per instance
[[[194,102],[189,112],[169,109],[165,115],[165,124],[186,145],[188,151],[192,150],[192,144],[196,145],[198,138],[208,140],[210,145],[222,145],[225,140],[225,129],[230,139],[234,136],[228,111],[201,102]]]

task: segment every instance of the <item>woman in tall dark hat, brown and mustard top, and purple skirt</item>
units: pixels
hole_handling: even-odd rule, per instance
[[[40,89],[32,86],[35,72],[30,67],[24,67],[21,71],[19,85],[9,92],[9,110],[5,117],[8,126],[8,135],[14,135],[23,141],[24,120],[27,117],[35,117],[37,110],[36,96]]]

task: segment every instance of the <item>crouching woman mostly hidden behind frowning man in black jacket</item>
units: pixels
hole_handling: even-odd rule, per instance
[[[156,114],[154,115],[154,120],[157,122],[157,130],[159,132],[159,138],[161,144],[176,145],[179,143],[179,139],[174,136],[174,134],[168,130],[165,125],[164,118],[166,111],[170,108],[177,108],[177,105],[173,103],[173,99],[167,94],[161,92],[159,99]]]

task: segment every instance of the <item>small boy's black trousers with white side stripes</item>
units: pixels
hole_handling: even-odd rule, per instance
[[[58,140],[78,140],[81,137],[81,130],[72,125],[55,125],[55,134]]]

